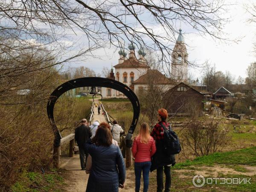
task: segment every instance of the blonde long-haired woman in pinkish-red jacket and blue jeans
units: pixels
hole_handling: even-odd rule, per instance
[[[156,152],[156,145],[153,137],[149,134],[147,123],[143,123],[140,127],[140,134],[135,137],[132,145],[132,155],[134,160],[135,172],[135,192],[140,191],[140,177],[143,172],[143,192],[148,191],[149,171],[151,167],[151,157]]]

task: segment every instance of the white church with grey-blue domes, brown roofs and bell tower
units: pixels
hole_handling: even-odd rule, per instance
[[[139,93],[140,90],[146,89],[151,79],[154,79],[157,86],[161,87],[163,90],[169,90],[177,83],[186,82],[188,76],[188,53],[186,51],[184,37],[181,33],[182,30],[179,29],[179,31],[180,33],[172,52],[171,79],[160,73],[160,71],[151,70],[148,67],[144,58],[145,52],[142,48],[139,49],[139,56],[136,57],[135,46],[133,44],[128,47],[130,50],[128,57],[125,51],[120,50],[118,52],[120,55],[118,64],[113,66],[115,72],[113,67],[111,68],[109,78],[127,85],[135,94]],[[101,93],[103,98],[125,97],[121,92],[106,87],[102,87]]]

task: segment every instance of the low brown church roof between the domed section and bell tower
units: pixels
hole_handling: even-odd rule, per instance
[[[148,69],[147,73],[140,76],[133,84],[148,84],[150,80],[155,81],[156,84],[174,84],[173,81],[164,76],[160,71],[151,69]]]

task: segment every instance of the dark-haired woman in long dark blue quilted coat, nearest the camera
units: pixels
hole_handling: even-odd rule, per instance
[[[125,183],[125,163],[120,148],[112,144],[110,129],[99,126],[85,150],[92,157],[86,192],[118,192]]]

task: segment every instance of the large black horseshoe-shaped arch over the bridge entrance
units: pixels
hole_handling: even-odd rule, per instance
[[[136,128],[139,115],[140,115],[140,103],[135,95],[135,93],[125,84],[120,83],[119,81],[115,81],[112,79],[107,79],[107,78],[101,78],[101,77],[84,77],[84,78],[79,78],[79,79],[73,79],[70,81],[65,82],[64,84],[61,84],[58,86],[51,94],[48,102],[47,102],[47,115],[49,118],[49,121],[52,125],[52,129],[54,132],[54,146],[58,147],[60,146],[60,140],[61,140],[61,134],[58,131],[57,125],[55,124],[54,116],[53,116],[53,109],[55,106],[55,103],[57,99],[65,92],[72,90],[74,88],[78,87],[108,87],[112,88],[115,90],[118,90],[125,94],[125,96],[128,97],[128,99],[131,101],[134,115],[133,119],[131,122],[131,126],[129,128],[129,131],[125,137],[125,140],[127,141],[126,143],[128,144],[129,147],[131,147],[131,137],[132,134],[134,133],[134,130]]]

